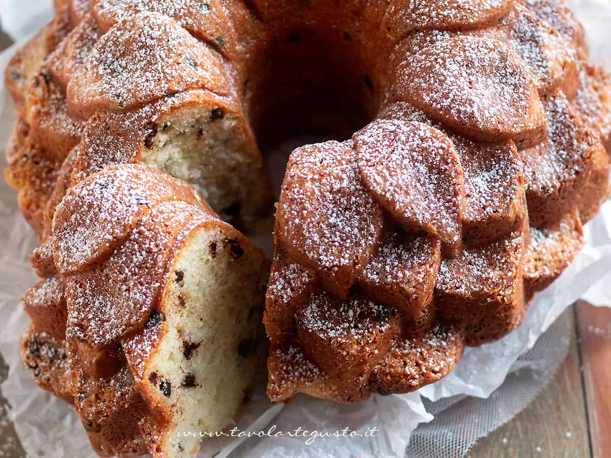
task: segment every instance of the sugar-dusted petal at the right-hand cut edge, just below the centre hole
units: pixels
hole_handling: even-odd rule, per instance
[[[375,245],[382,214],[360,182],[351,145],[293,151],[280,194],[279,235],[331,274],[354,270]]]

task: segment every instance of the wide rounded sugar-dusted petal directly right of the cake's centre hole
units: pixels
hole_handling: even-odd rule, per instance
[[[401,64],[398,75],[398,99],[461,132],[498,140],[543,128],[530,76],[498,40],[449,38]]]

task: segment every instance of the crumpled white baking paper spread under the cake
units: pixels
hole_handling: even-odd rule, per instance
[[[573,0],[569,4],[588,32],[591,59],[611,70],[611,2]],[[15,42],[23,42],[45,24],[51,14],[50,0],[0,0],[0,23]],[[0,54],[2,73],[14,48]],[[14,117],[14,107],[2,87],[2,145],[10,135]],[[4,168],[4,158],[0,166]],[[201,456],[404,456],[414,429],[433,420],[427,409],[444,412],[439,406],[451,405],[453,399],[463,399],[457,396],[488,398],[508,374],[525,367],[536,368],[537,360],[518,358],[535,346],[538,337],[568,305],[580,297],[591,304],[611,304],[611,290],[606,287],[611,281],[610,202],[606,202],[599,215],[586,225],[585,239],[587,245],[571,266],[552,286],[536,295],[523,324],[496,343],[467,349],[445,379],[415,393],[375,395],[354,405],[334,404],[304,395],[295,396],[290,405],[273,405],[265,396],[263,374],[238,424],[243,435],[205,440]],[[12,405],[10,420],[15,423],[24,449],[31,456],[93,458],[95,454],[71,407],[38,389],[19,358],[18,338],[29,322],[20,297],[38,281],[27,261],[34,246],[34,234],[18,212],[16,193],[1,181],[0,352],[10,367],[9,376],[2,385],[2,393]],[[545,382],[540,380],[541,386]],[[451,396],[453,398],[448,399]],[[280,431],[285,435],[262,436],[262,432],[268,432],[272,426],[276,428],[272,434]],[[295,437],[299,427],[301,434]],[[342,436],[346,427],[354,432],[353,437],[345,437],[345,432]],[[371,432],[372,427],[377,434]],[[251,437],[247,432],[251,432]],[[288,432],[293,436],[286,435]],[[370,437],[364,437],[366,432],[370,432]],[[323,437],[324,434],[327,437]],[[437,456],[442,455],[451,454],[440,449]]]

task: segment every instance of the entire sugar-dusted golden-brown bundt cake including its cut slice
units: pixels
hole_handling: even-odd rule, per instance
[[[609,195],[611,76],[562,0],[55,9],[5,73],[45,278],[22,354],[100,454],[235,421],[264,301],[273,401],[441,379],[520,324]],[[260,151],[299,133],[332,140],[291,153],[269,274],[238,230],[273,208]]]

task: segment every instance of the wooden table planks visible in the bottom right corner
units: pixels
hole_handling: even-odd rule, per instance
[[[469,457],[611,457],[611,308],[573,307],[571,347],[554,380]]]

